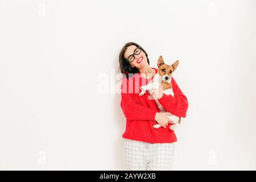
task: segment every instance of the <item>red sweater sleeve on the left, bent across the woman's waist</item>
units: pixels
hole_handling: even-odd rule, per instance
[[[122,80],[121,85],[121,108],[127,119],[131,120],[155,120],[156,110],[150,107],[139,105],[133,98],[133,93],[127,93],[129,84],[127,80]]]

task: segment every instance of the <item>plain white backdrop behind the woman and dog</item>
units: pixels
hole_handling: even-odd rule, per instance
[[[256,2],[0,0],[0,169],[123,170],[118,55],[180,60],[174,169],[256,169]]]

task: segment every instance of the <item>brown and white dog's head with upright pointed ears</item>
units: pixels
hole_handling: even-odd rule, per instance
[[[158,59],[158,74],[160,75],[163,81],[168,82],[170,84],[172,73],[174,73],[178,65],[179,60],[177,60],[172,65],[164,64],[163,57],[160,56]]]

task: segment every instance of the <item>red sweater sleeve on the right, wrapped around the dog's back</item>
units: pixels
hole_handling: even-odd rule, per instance
[[[172,90],[174,91],[174,96],[163,94],[158,101],[168,112],[177,117],[185,118],[188,110],[188,99],[180,90],[174,78],[172,78]]]

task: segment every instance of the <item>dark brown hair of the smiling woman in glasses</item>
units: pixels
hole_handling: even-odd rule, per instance
[[[127,47],[129,47],[131,45],[139,47],[139,44],[134,43],[134,42],[126,43],[125,46],[123,46],[123,48],[119,54],[119,70],[121,71],[121,73],[126,75],[126,78],[129,78],[129,76],[134,75],[135,73],[139,73],[138,68],[136,68],[136,67],[132,68],[130,63],[125,59],[125,56],[124,56]],[[141,47],[141,50],[145,53],[145,55],[147,57],[147,52],[142,47]],[[147,57],[147,63],[150,64],[148,57]],[[132,73],[132,74],[129,75],[129,73]]]

